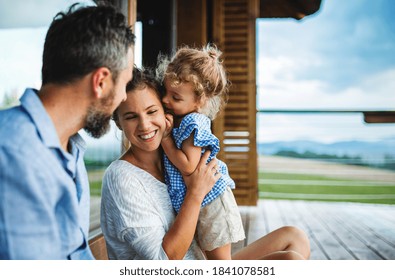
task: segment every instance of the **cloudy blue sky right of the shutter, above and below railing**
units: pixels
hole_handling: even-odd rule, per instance
[[[258,109],[395,110],[394,14],[392,0],[323,0],[301,21],[259,19]],[[367,125],[362,114],[260,114],[257,135],[374,141],[395,139],[395,125]]]

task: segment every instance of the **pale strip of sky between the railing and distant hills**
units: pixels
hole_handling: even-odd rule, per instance
[[[393,124],[365,124],[362,114],[259,114],[257,141],[313,140],[322,143],[394,137]]]

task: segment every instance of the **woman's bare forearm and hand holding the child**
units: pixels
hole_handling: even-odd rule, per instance
[[[220,173],[215,172],[216,159],[206,165],[209,155],[210,151],[206,151],[196,170],[190,176],[184,176],[187,186],[185,200],[173,226],[166,233],[162,243],[169,259],[184,258],[195,234],[200,205],[205,195],[221,177]]]

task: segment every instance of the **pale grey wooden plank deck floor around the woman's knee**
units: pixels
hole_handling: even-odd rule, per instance
[[[303,229],[313,260],[395,260],[395,206],[361,203],[259,200],[241,206],[249,244],[281,226]]]

